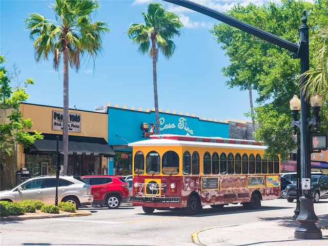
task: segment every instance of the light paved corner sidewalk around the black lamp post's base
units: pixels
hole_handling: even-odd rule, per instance
[[[195,244],[205,246],[327,246],[328,215],[318,215],[317,217],[319,218],[317,226],[324,228],[321,229],[322,239],[294,238],[294,232],[299,227],[299,222],[292,219],[208,228],[195,232],[192,239]]]

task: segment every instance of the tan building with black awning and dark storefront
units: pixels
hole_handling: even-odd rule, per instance
[[[13,178],[7,179],[3,175],[12,175],[17,170],[27,171],[31,176],[55,174],[57,136],[58,150],[62,151],[63,108],[22,103],[19,111],[24,118],[32,120],[30,131],[41,132],[44,139],[37,139],[30,148],[17,146],[15,163],[9,168],[14,170],[1,173],[1,190],[12,186],[10,182],[13,182]],[[107,157],[115,156],[115,152],[108,145],[107,137],[108,114],[70,109],[67,174],[107,173]],[[60,165],[63,165],[63,160],[64,156],[60,155]]]

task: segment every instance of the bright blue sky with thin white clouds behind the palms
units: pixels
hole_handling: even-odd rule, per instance
[[[119,108],[134,107],[142,111],[154,107],[152,60],[137,52],[127,30],[131,24],[144,23],[141,11],[147,12],[151,1],[99,1],[95,20],[109,24],[111,33],[103,40],[103,52],[92,60],[81,60],[78,73],[69,71],[69,106],[94,111],[94,107],[110,103]],[[176,111],[183,115],[195,114],[201,119],[250,120],[243,114],[250,111],[248,91],[225,86],[228,78],[221,69],[229,58],[209,32],[218,20],[195,11],[157,1],[180,16],[185,27],[182,35],[174,38],[177,49],[170,59],[161,54],[157,63],[158,103],[163,112]],[[251,1],[194,1],[224,12],[233,5],[248,5]],[[267,1],[252,1],[262,5]],[[278,1],[279,2],[279,1]],[[7,70],[15,64],[20,70],[15,81],[33,78],[35,85],[27,89],[27,103],[63,107],[63,67],[52,68],[52,57],[36,63],[32,40],[25,30],[25,19],[39,13],[54,19],[48,7],[54,1],[0,1],[1,54],[7,59]],[[253,93],[253,99],[256,98]]]

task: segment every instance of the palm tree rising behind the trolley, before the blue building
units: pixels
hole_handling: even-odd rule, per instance
[[[159,133],[159,113],[158,113],[158,94],[157,94],[157,74],[156,62],[158,49],[168,59],[175,51],[175,44],[172,38],[180,36],[183,25],[179,17],[172,12],[168,12],[160,3],[150,3],[148,12],[141,12],[144,16],[145,24],[133,24],[128,30],[128,35],[133,43],[140,45],[138,52],[141,54],[149,53],[153,61],[153,84],[154,84],[154,103],[156,117],[156,134]]]

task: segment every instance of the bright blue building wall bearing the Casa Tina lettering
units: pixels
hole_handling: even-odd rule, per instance
[[[111,146],[145,139],[141,124],[155,124],[155,112],[108,107],[108,142]],[[157,126],[156,126],[157,127]],[[159,112],[159,134],[229,137],[229,124],[198,117]]]

